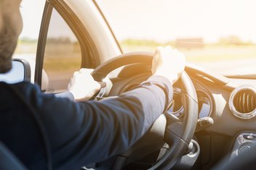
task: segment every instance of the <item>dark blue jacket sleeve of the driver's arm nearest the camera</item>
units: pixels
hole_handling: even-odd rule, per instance
[[[140,139],[172,99],[172,85],[152,76],[118,98],[100,102],[31,93],[49,137],[54,169],[75,169],[121,153]]]

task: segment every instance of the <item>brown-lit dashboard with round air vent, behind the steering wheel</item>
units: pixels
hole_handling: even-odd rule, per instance
[[[113,81],[119,95],[139,85],[151,75],[149,68],[136,72],[124,67]],[[221,158],[233,158],[256,144],[256,80],[234,79],[215,75],[200,67],[187,66],[185,71],[193,82],[198,99],[198,125],[194,140],[201,148],[201,165],[210,169]],[[173,103],[168,113],[182,118],[185,113],[184,90],[181,82],[174,87]],[[189,114],[189,113],[188,113]]]

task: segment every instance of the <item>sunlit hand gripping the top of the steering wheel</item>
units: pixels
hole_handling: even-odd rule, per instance
[[[156,48],[151,69],[153,75],[167,77],[173,84],[179,79],[184,68],[185,57],[180,51],[170,46]]]

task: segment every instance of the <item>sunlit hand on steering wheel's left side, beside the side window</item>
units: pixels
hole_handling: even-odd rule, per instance
[[[87,101],[100,90],[100,84],[91,75],[92,71],[93,69],[80,69],[79,72],[73,73],[68,90],[76,101]]]

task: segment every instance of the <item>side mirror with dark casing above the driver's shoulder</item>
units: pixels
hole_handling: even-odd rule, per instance
[[[22,81],[31,82],[31,67],[25,59],[12,59],[12,69],[0,74],[0,81],[16,83]]]

